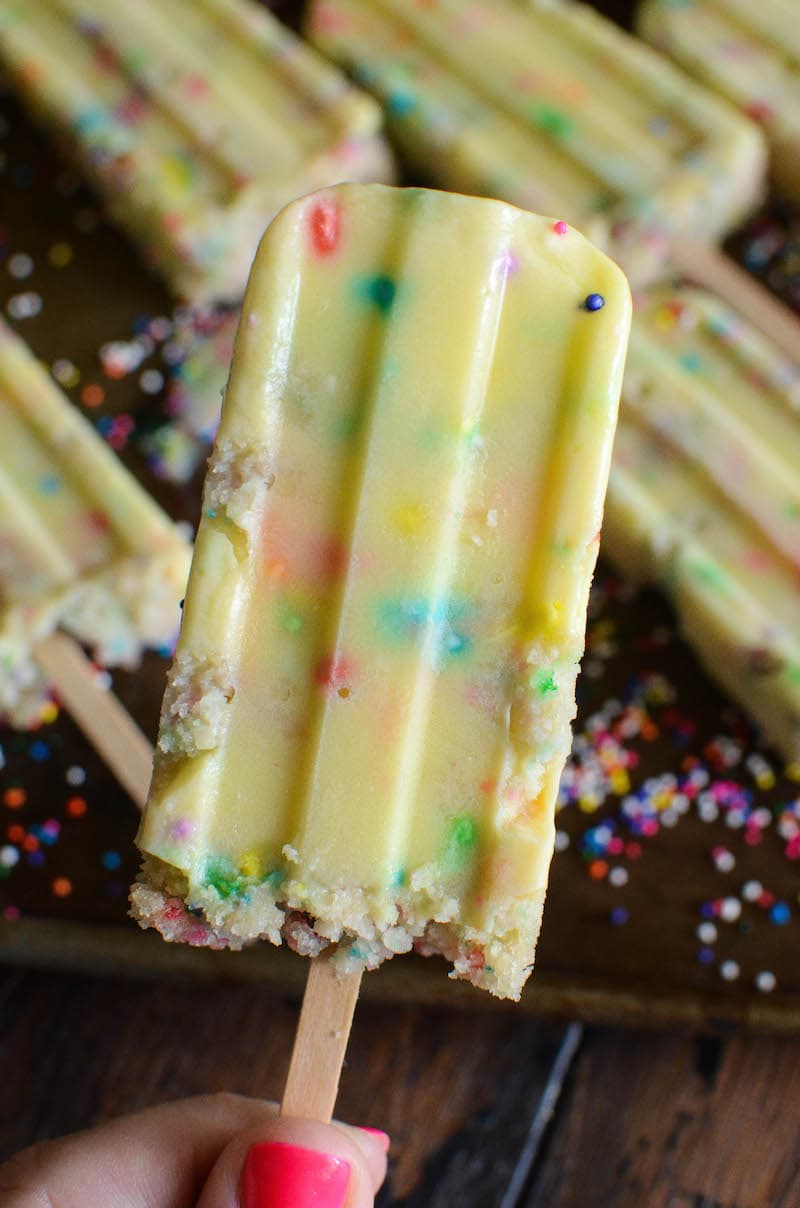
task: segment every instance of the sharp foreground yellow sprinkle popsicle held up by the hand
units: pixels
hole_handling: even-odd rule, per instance
[[[417,946],[516,998],[569,749],[630,319],[566,222],[341,186],[261,244],[134,913]]]

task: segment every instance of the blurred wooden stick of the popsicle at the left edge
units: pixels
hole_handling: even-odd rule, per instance
[[[102,689],[89,660],[73,638],[53,633],[37,643],[35,658],[56,686],[94,749],[140,809],[152,774],[152,747],[112,692]]]

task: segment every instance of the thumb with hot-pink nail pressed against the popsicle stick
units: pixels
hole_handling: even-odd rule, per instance
[[[385,1133],[282,1117],[232,1140],[197,1208],[372,1208]]]

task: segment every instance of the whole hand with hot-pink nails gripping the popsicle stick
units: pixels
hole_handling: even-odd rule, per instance
[[[4,1208],[371,1208],[385,1133],[209,1094],[45,1142],[0,1166]]]

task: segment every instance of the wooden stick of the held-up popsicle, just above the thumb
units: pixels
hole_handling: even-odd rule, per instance
[[[340,975],[330,957],[312,960],[282,1116],[330,1123],[360,985],[360,970]]]

